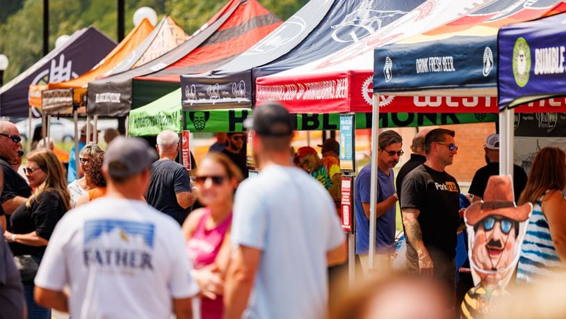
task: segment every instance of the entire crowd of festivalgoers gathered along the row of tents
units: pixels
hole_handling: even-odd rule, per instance
[[[347,256],[337,216],[339,144],[328,139],[320,145],[321,156],[310,146],[294,151],[293,120],[278,104],[256,109],[245,125],[253,132],[248,142],[261,171],[253,178],[248,178],[241,132],[216,134],[190,177],[176,162],[176,132],[161,132],[154,147],[143,139],[113,136],[102,150],[86,143],[92,137],[86,138],[83,127],[79,158],[71,152],[65,173],[47,139],[20,168],[24,154],[17,127],[0,121],[2,315],[51,318],[51,309],[57,309],[72,318],[171,313],[192,318],[193,311],[204,319],[325,317],[329,270]],[[90,132],[97,134],[92,127]],[[403,139],[394,130],[378,137],[373,269],[368,267],[371,165],[357,175],[355,253],[364,277],[380,281],[337,302],[332,318],[419,313],[453,318],[460,309],[453,292],[464,212],[460,186],[446,172],[458,155],[455,132],[421,130],[410,149],[410,160],[395,178]],[[486,192],[492,187],[489,177],[499,174],[499,135],[487,137],[484,152],[487,165],[478,169],[466,196],[477,202],[474,218],[471,211],[465,215],[468,224],[484,234],[480,242],[490,256],[497,255],[506,243],[491,237],[494,230],[510,235],[518,229],[512,231],[515,221],[498,210],[532,203],[516,280],[528,284],[560,273],[566,258],[561,216],[566,154],[542,148],[528,177],[515,166],[512,186],[506,186],[513,198],[503,205],[493,204]],[[392,267],[396,205],[407,244],[403,276]],[[489,216],[479,213],[488,209]],[[462,306],[464,317],[476,310],[471,299]]]

